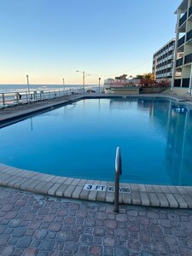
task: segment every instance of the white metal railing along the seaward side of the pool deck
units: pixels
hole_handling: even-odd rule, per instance
[[[28,94],[27,91],[15,91],[0,93],[0,108],[10,107],[22,103],[38,102],[61,96],[69,96],[83,93],[83,89],[69,90],[33,90]]]

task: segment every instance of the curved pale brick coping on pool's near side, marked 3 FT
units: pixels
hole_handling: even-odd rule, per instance
[[[107,188],[106,191],[86,190],[85,183],[104,185],[107,188],[114,185],[113,182],[60,177],[0,164],[2,186],[63,198],[113,203],[113,192],[108,192]],[[119,203],[144,207],[192,208],[192,187],[132,183],[120,183],[120,186],[129,187],[131,193],[119,193]]]

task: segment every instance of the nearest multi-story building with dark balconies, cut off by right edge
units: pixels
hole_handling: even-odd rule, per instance
[[[176,10],[177,26],[173,62],[172,90],[191,93],[192,84],[192,0],[183,0]],[[181,77],[177,77],[181,73]]]

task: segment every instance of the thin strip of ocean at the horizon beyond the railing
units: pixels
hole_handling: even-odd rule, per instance
[[[29,84],[30,90],[58,90],[58,89],[80,89],[82,88],[82,84]],[[96,90],[98,88],[98,85],[96,84],[85,84],[85,89],[89,90]],[[21,92],[21,91],[27,91],[28,87],[27,84],[0,84],[0,93],[6,93],[6,92]]]

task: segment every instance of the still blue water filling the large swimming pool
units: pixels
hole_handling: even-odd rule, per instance
[[[192,114],[170,100],[86,99],[0,129],[0,162],[60,176],[192,185]]]

